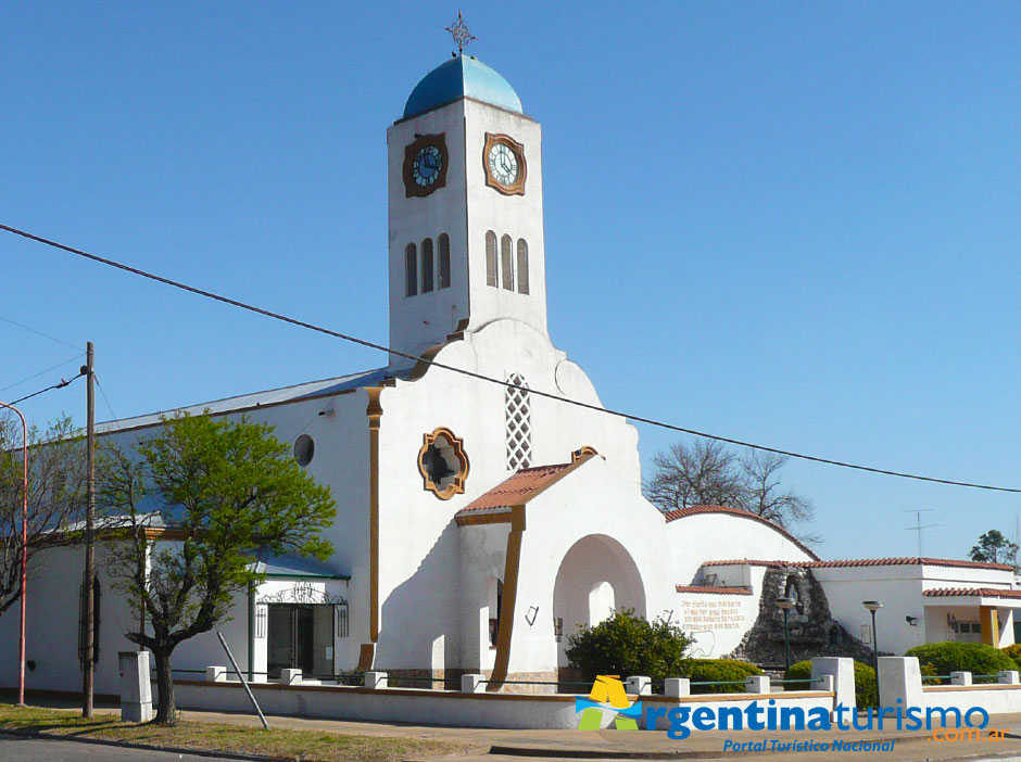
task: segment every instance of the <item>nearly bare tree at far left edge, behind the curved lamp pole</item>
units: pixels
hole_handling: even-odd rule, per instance
[[[85,440],[70,417],[28,432],[27,556],[77,538],[85,510]],[[22,596],[22,427],[0,418],[0,615]]]

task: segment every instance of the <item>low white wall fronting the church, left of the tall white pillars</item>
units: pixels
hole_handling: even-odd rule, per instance
[[[177,704],[181,709],[207,709],[226,712],[252,712],[252,704],[238,683],[204,683],[180,681],[175,684]],[[580,714],[575,711],[573,696],[550,695],[490,695],[426,690],[418,688],[368,688],[344,686],[283,686],[278,684],[252,685],[252,693],[266,714],[311,716],[331,720],[363,720],[373,722],[408,722],[464,727],[496,727],[508,729],[575,729]],[[155,688],[153,688],[155,695]],[[634,698],[634,697],[631,697]],[[833,708],[833,694],[805,691],[796,695],[772,694],[749,696],[727,694],[717,696],[685,696],[666,698],[642,696],[643,703],[664,707],[669,711],[677,706],[738,707],[744,709],[752,701],[766,707],[776,699],[784,707]],[[657,727],[666,728],[660,719]],[[644,720],[639,722],[644,726]]]

